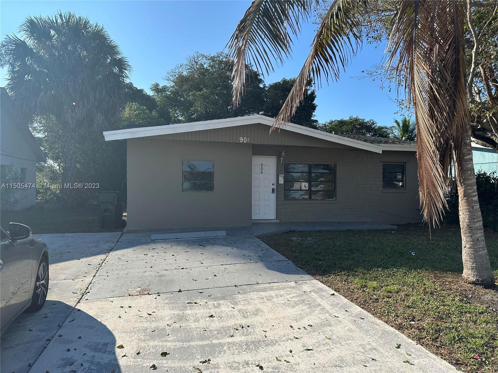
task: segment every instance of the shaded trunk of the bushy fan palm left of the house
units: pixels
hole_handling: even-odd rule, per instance
[[[76,136],[67,123],[62,124],[62,185],[61,199],[64,207],[76,204],[75,183]]]

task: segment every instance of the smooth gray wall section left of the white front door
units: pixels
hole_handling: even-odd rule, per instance
[[[127,140],[127,230],[251,224],[250,144]],[[214,191],[182,191],[182,160],[214,161]]]

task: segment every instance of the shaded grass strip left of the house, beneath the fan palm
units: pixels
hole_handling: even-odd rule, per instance
[[[99,208],[84,206],[66,209],[59,204],[35,205],[19,211],[0,211],[0,224],[8,230],[8,223],[28,225],[33,234],[115,232],[119,229],[100,229]]]

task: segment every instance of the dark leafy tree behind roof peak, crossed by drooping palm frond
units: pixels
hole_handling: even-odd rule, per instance
[[[290,90],[296,83],[296,78],[286,79],[271,83],[266,87],[264,97],[263,115],[272,118],[278,115]],[[290,119],[292,123],[317,129],[318,121],[314,118],[316,110],[316,92],[312,89],[313,81],[310,79],[306,85],[306,92],[303,95],[303,102],[296,109]]]

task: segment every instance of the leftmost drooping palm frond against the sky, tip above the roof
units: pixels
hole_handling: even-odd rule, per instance
[[[301,31],[317,0],[254,0],[227,43],[233,59],[233,102],[237,106],[247,85],[249,64],[261,73],[274,70],[292,52],[292,38]]]

